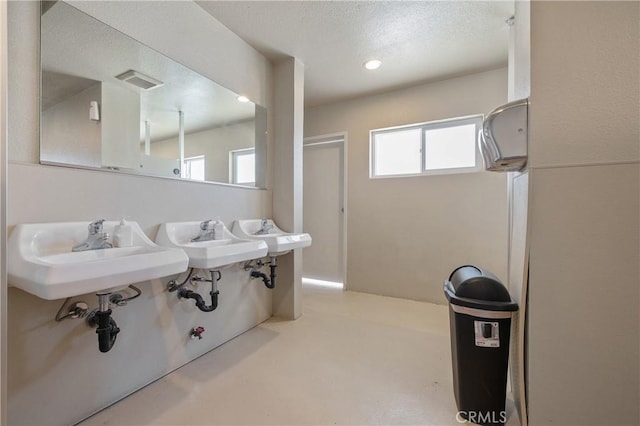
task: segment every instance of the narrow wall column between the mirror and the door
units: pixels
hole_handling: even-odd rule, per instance
[[[273,219],[288,232],[302,232],[302,139],[304,65],[289,58],[274,67],[275,146]],[[278,257],[273,314],[296,319],[302,314],[302,249]]]

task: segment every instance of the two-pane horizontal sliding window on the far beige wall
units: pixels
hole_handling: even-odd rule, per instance
[[[476,139],[482,116],[370,132],[372,178],[481,170]]]

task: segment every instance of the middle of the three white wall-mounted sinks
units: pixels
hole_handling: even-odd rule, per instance
[[[267,245],[263,241],[240,239],[229,232],[224,224],[220,224],[224,232],[218,236],[219,239],[192,242],[200,233],[200,223],[163,223],[156,242],[166,247],[181,248],[189,257],[189,267],[198,269],[216,269],[267,254]]]

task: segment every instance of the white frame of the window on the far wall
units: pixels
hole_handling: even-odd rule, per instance
[[[434,176],[434,175],[448,175],[448,174],[462,174],[462,173],[476,173],[483,171],[482,155],[478,148],[478,134],[482,129],[482,121],[484,115],[468,115],[464,117],[448,118],[444,120],[428,121],[424,123],[409,124],[403,126],[385,127],[381,129],[373,129],[369,131],[369,178],[370,179],[388,179],[399,177],[415,177],[415,176]],[[427,130],[443,129],[448,127],[459,127],[468,124],[475,124],[475,138],[474,138],[474,150],[475,150],[475,166],[473,167],[454,167],[446,169],[426,169],[425,161],[425,149],[426,138],[425,134]],[[393,133],[403,130],[420,129],[420,173],[400,173],[400,174],[387,174],[377,175],[375,170],[376,160],[376,144],[375,135],[384,133]]]

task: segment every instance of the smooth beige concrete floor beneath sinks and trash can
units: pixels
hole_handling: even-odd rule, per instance
[[[315,286],[303,306],[81,424],[459,424],[446,306]]]

